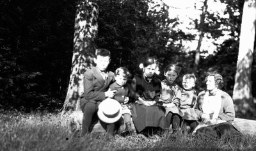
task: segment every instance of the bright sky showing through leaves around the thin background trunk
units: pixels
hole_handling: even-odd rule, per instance
[[[236,13],[237,9],[234,8],[237,3],[232,4],[231,1],[227,4],[225,1],[187,1],[188,4],[179,4],[175,7],[175,3],[170,3],[170,13],[179,15],[180,25],[178,28],[184,30],[186,33],[191,33],[190,38],[184,38],[182,51],[186,52],[186,60],[182,60],[185,72],[195,72],[196,76],[202,80],[204,78],[204,72],[208,68],[212,68],[213,65],[205,64],[209,58],[216,56],[221,47],[221,43],[227,38],[234,38],[232,36],[234,27],[230,25],[230,22],[239,22],[239,20],[231,20],[231,17]],[[233,2],[233,1],[232,1]],[[172,6],[173,4],[173,6]],[[214,8],[214,5],[220,5],[220,8]],[[231,8],[227,12],[225,6]],[[184,11],[188,11],[183,14]],[[229,13],[230,18],[229,18]],[[174,15],[173,15],[174,16]],[[234,18],[236,19],[236,18]],[[231,42],[231,41],[230,41]],[[197,47],[196,47],[197,46]],[[209,54],[209,52],[211,52]],[[213,54],[213,55],[211,55]],[[213,57],[214,58],[214,57]],[[213,59],[212,58],[212,59]],[[221,61],[221,60],[218,60]],[[215,61],[215,63],[218,63]],[[202,66],[204,65],[204,66]],[[217,66],[216,66],[217,67]],[[215,68],[215,67],[214,67]],[[204,88],[201,83],[196,84],[199,89]]]

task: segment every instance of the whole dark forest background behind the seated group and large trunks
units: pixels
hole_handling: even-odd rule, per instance
[[[70,83],[74,19],[79,2],[0,2],[1,111],[56,112],[63,107]],[[201,2],[202,8],[195,8],[202,9],[202,14],[204,2]],[[168,63],[179,63],[183,67],[180,77],[196,71],[197,91],[205,88],[205,73],[218,70],[225,81],[223,90],[232,96],[244,1],[218,2],[227,4],[223,13],[228,17],[222,18],[218,13],[205,10],[203,20],[190,20],[194,28],[189,29],[196,33],[187,33],[177,28],[182,24],[179,18],[168,17],[169,6],[166,4],[156,4],[150,0],[93,1],[99,6],[99,19],[97,36],[89,51],[108,49],[112,58],[109,70],[126,66],[132,74],[138,72],[142,58],[154,56],[159,61],[160,79],[163,79],[163,68]],[[221,44],[214,43],[216,50],[212,54],[208,50],[200,51],[199,62],[195,65],[196,50],[188,51],[184,42],[197,44],[200,35],[216,40],[225,31],[228,31],[228,38]],[[256,63],[253,60],[253,97],[256,97],[255,70]],[[69,107],[74,108],[72,104]]]

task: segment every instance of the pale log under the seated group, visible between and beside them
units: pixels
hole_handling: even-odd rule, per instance
[[[93,117],[92,125],[90,125],[90,132],[106,132],[106,123],[100,122],[97,115]],[[70,129],[72,131],[80,131],[82,128],[83,113],[82,111],[74,111],[70,115]],[[235,118],[234,127],[237,128],[244,135],[256,135],[256,120],[247,120],[243,118]],[[122,132],[125,128],[124,120],[120,120],[119,132]],[[132,123],[132,129],[136,132],[134,124]],[[188,127],[189,129],[189,127]]]

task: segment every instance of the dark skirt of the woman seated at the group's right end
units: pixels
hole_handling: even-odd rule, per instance
[[[242,134],[241,132],[237,131],[232,123],[225,122],[217,125],[202,127],[196,131],[196,136],[200,136],[205,139],[218,140],[220,138],[240,138]]]

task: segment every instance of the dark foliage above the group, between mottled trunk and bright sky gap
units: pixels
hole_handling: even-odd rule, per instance
[[[166,65],[182,49],[175,42],[186,38],[184,32],[173,28],[177,19],[168,18],[168,6],[148,0],[98,1],[98,47],[111,51],[110,70],[127,66],[134,74],[145,56],[155,56]]]

